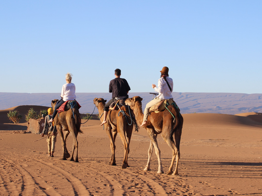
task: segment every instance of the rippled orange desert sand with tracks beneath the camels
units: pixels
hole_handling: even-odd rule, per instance
[[[48,157],[46,139],[35,141],[41,136],[13,133],[27,127],[23,121],[9,122],[9,110],[0,111],[0,195],[262,195],[262,113],[183,114],[179,176],[172,176],[156,174],[155,154],[152,171],[143,170],[150,143],[144,128],[133,131],[130,167],[121,169],[120,137],[116,138],[117,166],[110,166],[105,130],[99,120],[89,120],[81,125],[79,163],[75,163],[60,160],[59,135],[54,157]],[[160,136],[158,143],[167,172],[171,150]],[[71,153],[71,135],[67,148]]]

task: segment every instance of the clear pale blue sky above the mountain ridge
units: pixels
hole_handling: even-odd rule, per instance
[[[262,1],[0,1],[1,92],[262,93]]]

